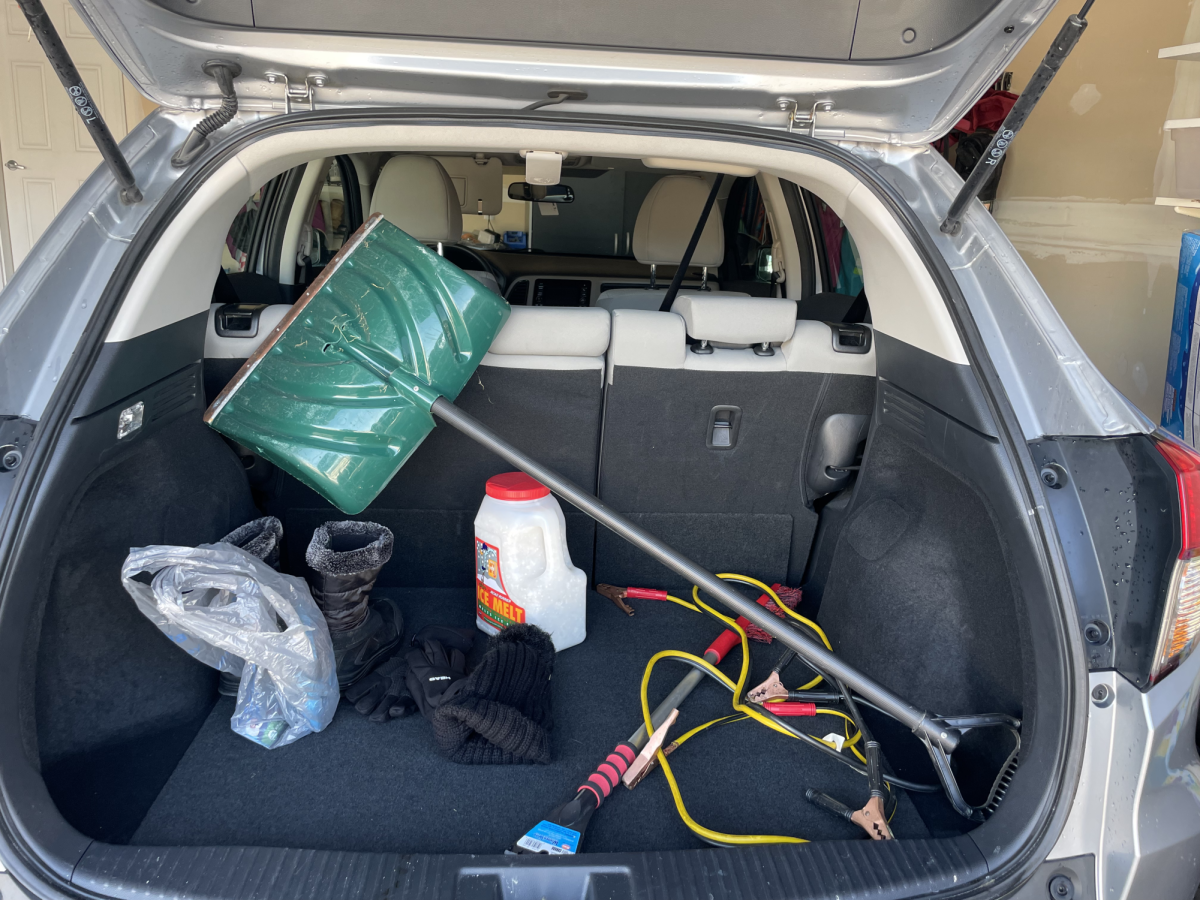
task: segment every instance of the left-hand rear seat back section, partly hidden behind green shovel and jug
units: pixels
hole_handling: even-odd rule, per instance
[[[515,446],[594,491],[610,328],[602,310],[512,307],[455,402]],[[439,424],[359,516],[396,535],[392,560],[379,583],[473,584],[473,522],[484,485],[511,468]],[[341,515],[294,479],[287,479],[280,500],[284,529],[294,538],[289,562],[300,565],[307,535]],[[590,578],[595,526],[570,506],[563,512],[571,560]]]

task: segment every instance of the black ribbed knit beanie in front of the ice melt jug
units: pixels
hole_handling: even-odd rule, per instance
[[[550,762],[554,644],[535,625],[491,638],[458,695],[433,716],[438,749],[451,762],[503,766]]]

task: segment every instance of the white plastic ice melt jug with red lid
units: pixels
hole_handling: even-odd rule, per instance
[[[566,520],[550,488],[523,472],[487,480],[475,515],[475,624],[490,635],[517,622],[556,650],[587,637],[587,576],[566,552]]]

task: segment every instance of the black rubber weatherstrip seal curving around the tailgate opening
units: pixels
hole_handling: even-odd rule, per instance
[[[47,472],[58,439],[96,362],[104,335],[108,332],[113,318],[120,308],[125,293],[140,270],[157,236],[163,233],[167,224],[174,220],[209,175],[234,154],[254,142],[281,131],[347,127],[368,122],[378,124],[380,121],[428,126],[557,127],[596,133],[637,133],[660,137],[689,136],[692,138],[736,142],[746,145],[808,152],[841,166],[872,191],[905,232],[942,294],[968,361],[978,376],[979,386],[984,394],[989,413],[998,426],[1001,445],[1015,468],[1014,481],[1016,488],[1021,492],[1022,498],[1026,500],[1026,508],[1031,511],[1028,517],[1030,524],[1034,529],[1034,536],[1037,538],[1036,548],[1039,551],[1043,560],[1042,572],[1043,577],[1048,581],[1048,594],[1057,596],[1060,600],[1058,608],[1052,610],[1061,625],[1056,631],[1067,636],[1069,654],[1068,666],[1058,672],[1045,673],[1048,677],[1056,677],[1064,685],[1064,720],[1062,727],[1066,734],[1063,742],[1066,751],[1060,755],[1058,764],[1050,773],[1050,797],[1057,799],[1063,792],[1064,784],[1074,785],[1076,782],[1082,763],[1082,738],[1086,733],[1087,713],[1086,702],[1080,702],[1080,697],[1086,696],[1087,688],[1082,636],[1075,622],[1074,613],[1069,613],[1069,610],[1073,608],[1073,595],[1066,564],[1054,532],[1054,524],[1045,512],[1046,505],[1040,490],[1040,482],[1037,478],[1037,469],[1033,466],[1030,449],[1021,436],[1020,422],[1007,396],[1003,394],[1000,377],[988,356],[978,326],[971,317],[966,299],[962,296],[961,289],[954,280],[954,275],[946,259],[937,251],[934,235],[916,221],[910,206],[895,188],[876,175],[875,170],[866,162],[822,140],[767,128],[719,124],[701,125],[694,121],[662,121],[642,118],[588,116],[560,112],[518,110],[502,113],[491,109],[422,109],[419,112],[403,109],[334,109],[276,116],[234,132],[226,142],[211,148],[192,163],[179,180],[168,188],[163,198],[146,217],[142,228],[138,229],[137,235],[130,242],[113,276],[104,287],[96,304],[95,312],[80,335],[76,353],[67,364],[59,380],[58,389],[47,404],[44,418],[34,436],[30,454],[26,457],[28,466],[22,467],[23,472],[20,472],[14,486],[12,502],[0,514],[0,600],[7,596],[8,572],[11,571],[8,562],[20,550],[26,515],[37,498],[42,479]],[[942,238],[942,240],[947,239]],[[1038,712],[1039,715],[1045,713],[1045,710]],[[1028,838],[1022,840],[1020,846],[988,848],[992,880],[986,887],[980,888],[978,884],[968,886],[960,878],[956,882],[956,887],[948,888],[943,893],[943,896],[965,896],[966,894],[971,894],[972,896],[1000,896],[1003,892],[1010,890],[1016,884],[1026,881],[1051,851],[1069,810],[1069,803],[1044,803],[1037,810],[1037,815],[1031,817],[1026,828]],[[42,815],[56,816],[56,811],[43,810]],[[5,841],[16,856],[16,858],[12,858],[12,856],[6,854],[6,860],[10,862],[10,871],[13,871],[24,884],[30,886],[36,880],[40,890],[44,892],[43,896],[62,895],[61,892],[64,889],[71,892],[67,894],[70,896],[80,896],[80,894],[64,883],[58,874],[47,868],[38,858],[38,854],[30,846],[30,841],[26,840],[26,838],[31,839],[31,835],[23,833],[24,829],[17,826],[6,803],[0,804],[0,830],[2,830]],[[238,852],[245,858],[246,853],[253,851],[244,848]],[[242,870],[244,874],[245,871]],[[875,896],[880,896],[880,894],[875,894]]]

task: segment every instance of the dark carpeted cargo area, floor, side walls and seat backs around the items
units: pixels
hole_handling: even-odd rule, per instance
[[[824,626],[834,649],[902,686],[913,702],[1022,715],[1024,650],[994,520],[978,491],[920,445],[912,426],[919,401],[875,378],[817,373],[770,373],[773,386],[763,384],[767,376],[744,374],[640,391],[638,378],[655,371],[625,378],[617,370],[602,442],[594,370],[482,366],[458,404],[586,486],[602,450],[602,498],[631,514],[661,510],[641,512],[646,526],[715,571],[803,584],[798,610]],[[587,640],[557,655],[548,766],[455,764],[438,755],[420,715],[373,724],[344,701],[324,732],[264,750],[230,731],[233,700],[218,698],[217,673],[170,646],[133,606],[118,571],[130,547],[215,541],[271,512],[284,524],[284,568],[300,574],[313,528],[342,516],[290,476],[263,472],[270,467],[262,460],[240,458],[206,428],[199,383],[199,367],[191,366],[151,389],[176,397],[175,409],[106,461],[47,562],[32,666],[36,746],[50,796],[85,835],[148,846],[499,853],[638,725],[650,655],[700,653],[721,630],[650,600],[632,601],[636,616],[628,617],[589,590]],[[624,407],[622,389],[637,391],[636,403]],[[748,410],[744,455],[720,457],[724,468],[706,467],[712,451],[696,414],[718,396]],[[809,424],[872,410],[857,481],[814,511],[796,478]],[[756,446],[769,457],[756,458]],[[396,535],[376,594],[400,602],[407,635],[430,623],[473,624],[472,518],[486,478],[508,468],[439,427],[362,514]],[[589,588],[640,584],[686,595],[676,576],[590,520],[569,506],[566,517],[571,558]],[[748,685],[769,673],[780,649],[751,643],[751,655]],[[724,671],[736,677],[739,659],[734,650]],[[787,683],[808,680],[805,672],[792,664]],[[682,666],[660,664],[652,703],[682,674]],[[683,704],[673,733],[730,712],[728,692],[706,680]],[[936,784],[914,737],[869,719],[890,770]],[[841,732],[840,720],[800,721],[817,736]],[[1001,740],[964,745],[955,756],[972,803],[986,797],[1008,750]],[[713,728],[672,763],[688,811],[708,827],[810,840],[864,836],[805,802],[804,791],[857,808],[866,799],[865,779],[755,722]],[[941,793],[898,796],[898,838],[971,827]],[[653,773],[634,791],[618,788],[596,812],[584,848],[700,846],[661,773]]]

